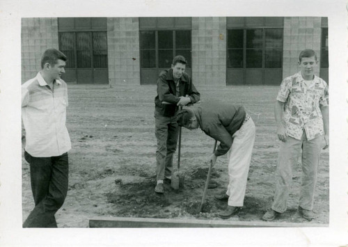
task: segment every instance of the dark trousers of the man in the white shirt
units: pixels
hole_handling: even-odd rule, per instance
[[[56,228],[54,214],[63,205],[68,192],[68,153],[57,157],[33,157],[24,152],[24,158],[30,164],[35,207],[23,228]]]

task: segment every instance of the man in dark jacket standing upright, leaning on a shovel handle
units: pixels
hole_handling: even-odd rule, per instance
[[[173,154],[179,133],[177,111],[180,106],[196,103],[200,99],[200,93],[189,75],[184,72],[186,65],[184,56],[175,56],[171,68],[163,70],[157,79],[157,96],[155,97],[155,136],[157,138],[155,192],[157,193],[164,193],[165,178],[171,180]]]

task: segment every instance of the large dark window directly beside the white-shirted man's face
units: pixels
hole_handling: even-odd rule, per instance
[[[58,18],[58,44],[68,56],[62,79],[109,83],[105,17]]]

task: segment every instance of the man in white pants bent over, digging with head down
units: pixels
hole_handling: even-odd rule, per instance
[[[220,142],[210,157],[212,166],[217,157],[227,153],[230,182],[227,191],[215,196],[217,200],[228,200],[221,218],[230,218],[243,206],[246,180],[255,141],[255,125],[243,106],[209,102],[196,109],[184,109],[178,113],[177,122],[187,129],[200,129]]]

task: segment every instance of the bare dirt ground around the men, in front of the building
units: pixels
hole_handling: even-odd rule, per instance
[[[274,193],[274,171],[279,143],[276,139],[274,100],[278,86],[197,86],[204,102],[244,104],[256,125],[256,138],[248,174],[244,207],[225,221],[259,221],[270,207]],[[68,85],[67,127],[72,141],[69,152],[69,191],[56,213],[58,227],[88,228],[97,216],[151,217],[221,220],[216,216],[226,202],[214,200],[228,184],[226,155],[219,157],[212,172],[216,188],[207,192],[203,212],[196,207],[203,196],[207,159],[214,140],[199,129],[182,129],[180,171],[184,188],[164,195],[155,187],[155,86]],[[193,106],[194,107],[194,106]],[[22,159],[23,220],[33,209],[29,164]],[[174,157],[176,164],[177,156]],[[287,212],[275,222],[329,223],[329,150],[319,164],[314,211],[306,221],[297,212],[301,184],[301,160],[294,167]]]

